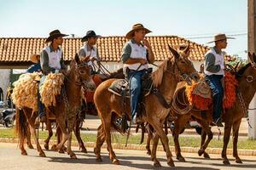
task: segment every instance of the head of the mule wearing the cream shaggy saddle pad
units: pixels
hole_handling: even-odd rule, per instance
[[[80,84],[84,89],[94,91],[96,84],[92,80],[91,66],[88,65],[90,57],[79,59],[79,55],[76,54],[75,58],[71,62],[71,70],[75,73],[75,82]]]

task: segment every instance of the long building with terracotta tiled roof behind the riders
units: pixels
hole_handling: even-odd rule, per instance
[[[13,82],[19,76],[22,69],[32,65],[29,60],[31,54],[39,54],[42,48],[45,47],[45,39],[41,37],[3,37],[0,38],[0,87],[6,92],[9,82]],[[180,43],[189,43],[193,46],[190,52],[190,59],[195,65],[195,69],[199,69],[204,62],[204,54],[209,49],[201,44],[191,42],[182,37],[177,36],[156,36],[147,37],[151,43],[156,63],[160,64],[162,60],[172,57],[168,45],[177,47]],[[63,52],[65,62],[68,64],[83,46],[81,38],[65,38],[63,42]],[[122,67],[120,62],[120,54],[126,42],[125,37],[100,37],[97,41],[97,47],[102,59],[102,65],[109,71],[114,71]],[[231,59],[226,56],[226,59]],[[21,69],[21,70],[20,70]],[[18,76],[17,76],[18,75]]]

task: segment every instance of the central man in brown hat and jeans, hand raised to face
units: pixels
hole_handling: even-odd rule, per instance
[[[132,26],[132,30],[126,34],[129,40],[125,43],[121,58],[124,71],[130,82],[131,90],[131,122],[136,123],[137,104],[141,95],[141,78],[148,69],[148,62],[154,63],[152,48],[145,39],[149,31],[142,24]]]

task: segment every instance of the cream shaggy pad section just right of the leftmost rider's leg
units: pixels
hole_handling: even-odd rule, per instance
[[[62,73],[49,73],[40,87],[41,101],[46,106],[56,105],[56,96],[61,94],[61,87],[64,82]]]

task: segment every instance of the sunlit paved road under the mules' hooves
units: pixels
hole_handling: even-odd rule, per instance
[[[145,151],[141,150],[115,150],[120,163],[122,165],[113,165],[109,159],[106,150],[102,150],[102,162],[96,163],[95,156],[92,152],[92,148],[89,148],[88,154],[83,154],[78,151],[78,148],[74,148],[78,160],[72,160],[67,154],[59,154],[53,151],[45,151],[46,158],[38,156],[36,150],[27,150],[28,156],[21,156],[20,150],[17,149],[17,144],[0,143],[0,169],[1,170],[71,170],[71,169],[111,169],[111,170],[132,170],[132,169],[154,169],[153,163],[150,161],[149,156],[145,154]],[[186,157],[187,162],[177,162],[175,160],[176,167],[173,169],[184,170],[215,170],[215,169],[256,169],[256,157],[255,156],[242,156],[243,164],[236,164],[234,159],[231,159],[231,166],[224,166],[218,155],[211,155],[211,160],[204,160],[199,158],[196,154],[183,154]],[[168,169],[166,164],[165,152],[158,152],[158,157],[163,167],[158,169]],[[231,156],[230,156],[231,158]]]

